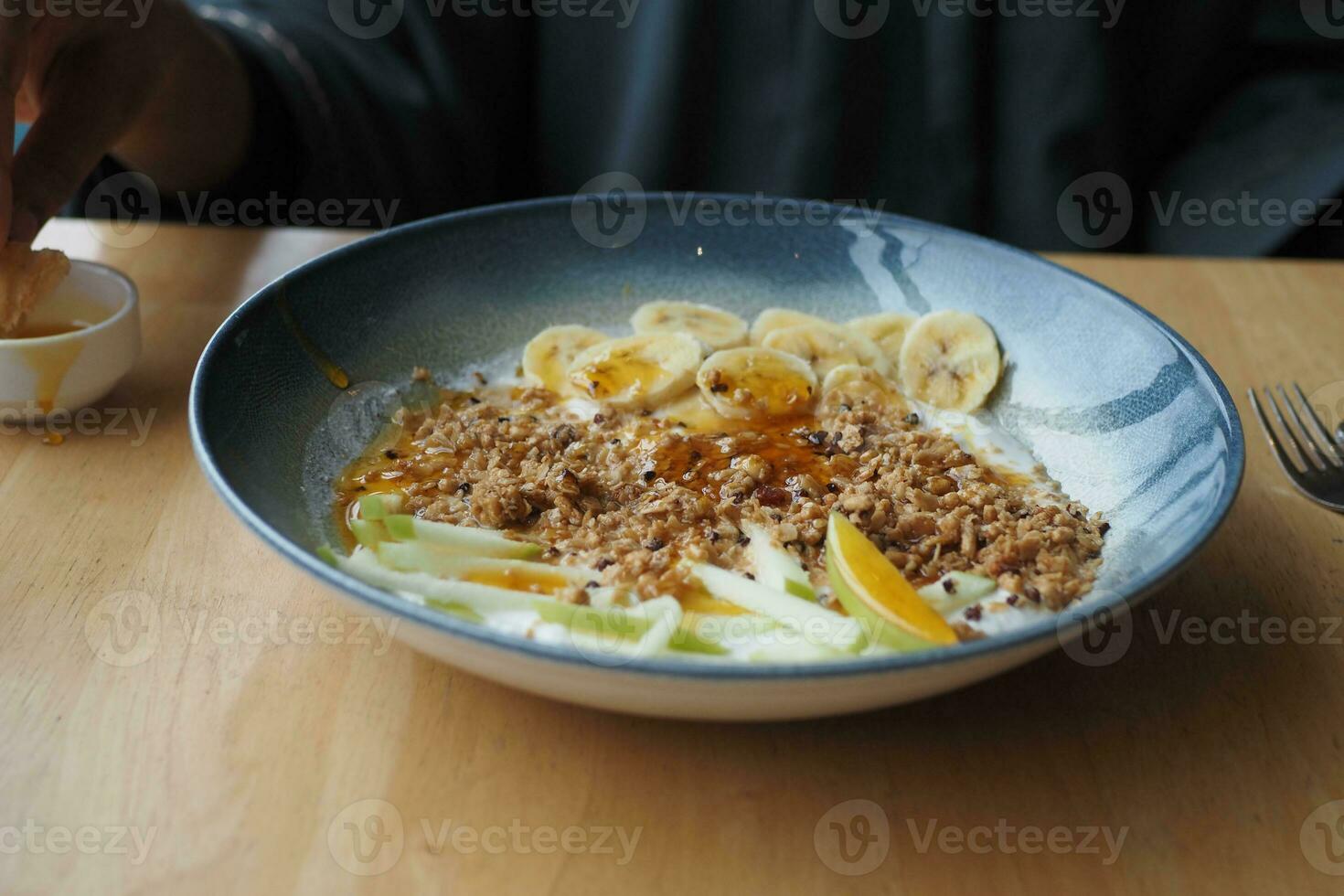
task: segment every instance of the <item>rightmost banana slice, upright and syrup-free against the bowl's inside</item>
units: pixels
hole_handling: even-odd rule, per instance
[[[906,394],[949,411],[969,414],[984,404],[1001,369],[995,332],[966,312],[925,314],[900,348]]]

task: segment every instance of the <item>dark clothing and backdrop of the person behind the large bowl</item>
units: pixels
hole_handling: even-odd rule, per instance
[[[200,4],[261,107],[219,192],[402,222],[621,172],[1043,251],[1344,257],[1344,0],[543,3]]]

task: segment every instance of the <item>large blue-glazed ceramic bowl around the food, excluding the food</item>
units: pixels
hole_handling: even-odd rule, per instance
[[[1169,326],[1036,255],[899,218],[788,200],[590,197],[445,215],[312,261],[245,302],[196,368],[191,430],[211,484],[277,552],[399,638],[477,674],[560,700],[707,719],[831,715],[949,690],[1064,646],[1083,662],[1128,643],[1128,610],[1169,580],[1227,514],[1242,478],[1227,390]],[[689,210],[689,214],[687,211]],[[335,541],[331,482],[410,388],[512,369],[551,324],[612,332],[641,302],[687,298],[743,317],[789,306],[833,320],[957,308],[988,320],[1008,359],[989,414],[1064,490],[1111,524],[1094,594],[1059,619],[927,653],[827,665],[614,666],[438,614],[351,579],[313,551]],[[351,386],[339,388],[344,371]],[[1093,623],[1116,637],[1078,641]],[[1086,643],[1087,649],[1081,647]],[[1098,653],[1099,652],[1099,653]]]

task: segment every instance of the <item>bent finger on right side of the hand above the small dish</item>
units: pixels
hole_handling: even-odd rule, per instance
[[[133,90],[99,90],[106,54],[81,47],[56,58],[42,113],[13,160],[13,239],[31,239],[79,188],[132,121]]]

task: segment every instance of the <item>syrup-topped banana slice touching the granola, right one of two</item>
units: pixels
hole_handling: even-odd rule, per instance
[[[770,348],[715,352],[695,376],[700,394],[723,416],[790,416],[812,404],[817,377],[806,361]]]

